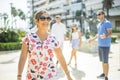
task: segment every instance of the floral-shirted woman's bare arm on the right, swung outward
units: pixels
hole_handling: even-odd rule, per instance
[[[72,80],[71,77],[70,77],[67,65],[66,65],[65,58],[62,54],[62,50],[60,48],[54,48],[54,50],[55,50],[56,57],[57,57],[60,65],[61,65],[62,69],[64,70],[68,80]]]

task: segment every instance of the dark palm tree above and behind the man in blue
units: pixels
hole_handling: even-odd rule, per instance
[[[103,0],[103,10],[106,9],[107,11],[107,18],[109,18],[109,10],[112,8],[112,5],[114,4],[114,0]]]

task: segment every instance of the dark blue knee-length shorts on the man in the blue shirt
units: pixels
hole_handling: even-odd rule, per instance
[[[99,59],[103,63],[108,63],[110,47],[98,47]]]

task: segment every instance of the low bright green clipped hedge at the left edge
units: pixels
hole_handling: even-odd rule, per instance
[[[0,43],[0,51],[18,50],[21,48],[20,42]]]

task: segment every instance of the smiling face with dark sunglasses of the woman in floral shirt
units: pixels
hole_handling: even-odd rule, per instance
[[[44,13],[40,16],[39,20],[37,21],[37,25],[39,28],[48,28],[50,25],[51,17],[49,14]]]

